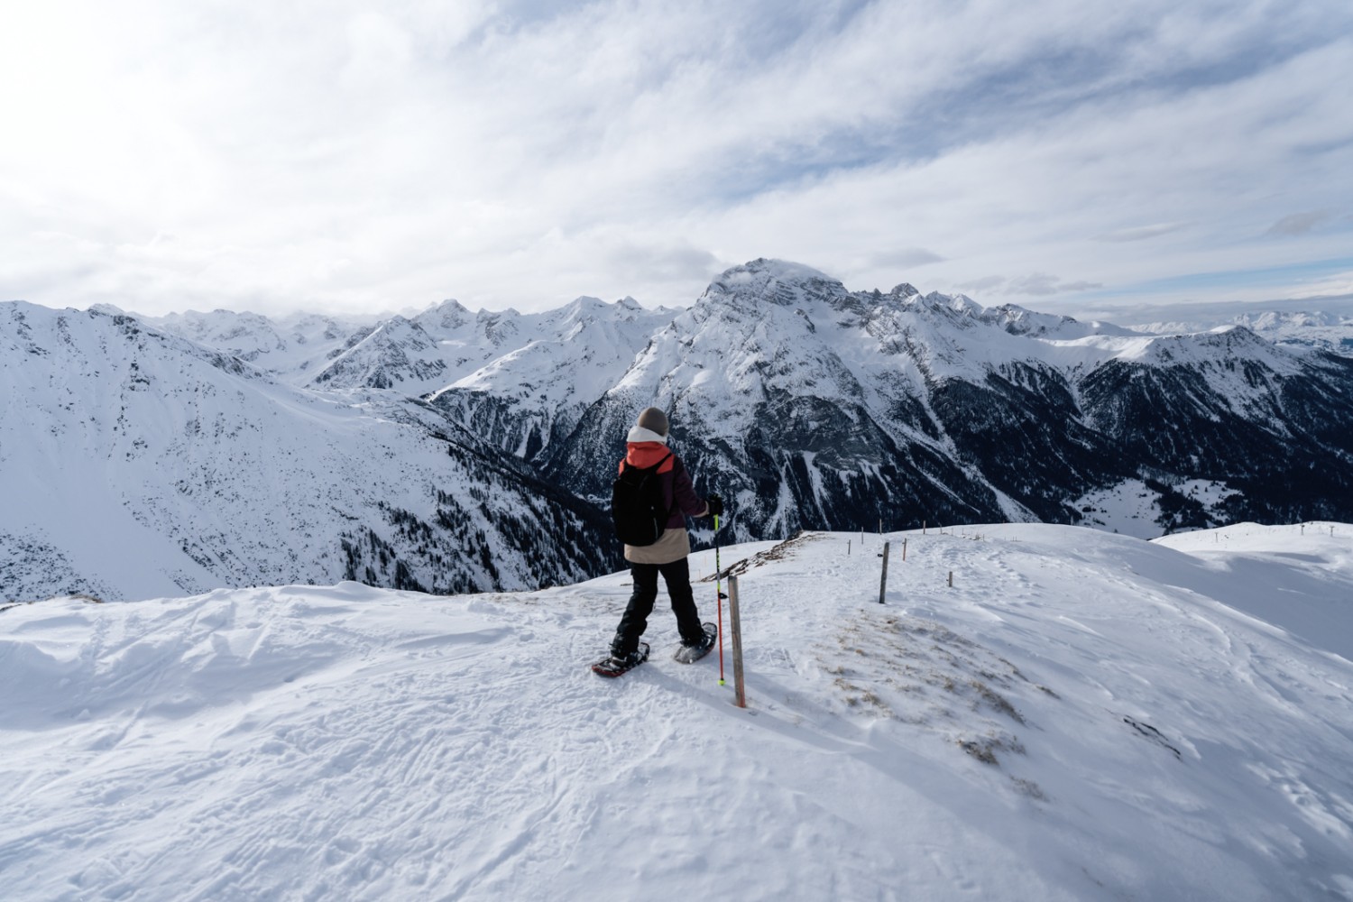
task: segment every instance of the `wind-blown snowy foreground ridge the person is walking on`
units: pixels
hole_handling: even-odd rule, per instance
[[[1333,534],[1331,534],[1333,533]],[[613,575],[0,611],[11,899],[1353,898],[1353,527],[725,548],[716,656],[587,672]],[[902,560],[902,541],[907,557]],[[693,559],[712,571],[712,553]],[[954,586],[947,583],[954,573]],[[713,586],[698,586],[713,617]]]

